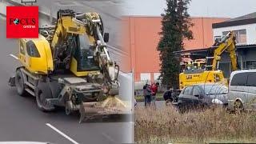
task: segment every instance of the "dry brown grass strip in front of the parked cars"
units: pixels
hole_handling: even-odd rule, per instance
[[[256,142],[256,115],[229,114],[222,108],[179,114],[173,107],[162,110],[138,107],[135,142]]]

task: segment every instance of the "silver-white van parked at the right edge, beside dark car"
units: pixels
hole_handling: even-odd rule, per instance
[[[256,110],[256,70],[232,72],[227,98],[229,110]]]

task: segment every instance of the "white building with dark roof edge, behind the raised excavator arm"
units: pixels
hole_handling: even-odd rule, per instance
[[[226,22],[214,23],[212,27],[214,39],[222,38],[229,31],[234,31],[240,69],[256,69],[256,12]],[[227,53],[222,54],[220,69],[229,77],[231,68]]]

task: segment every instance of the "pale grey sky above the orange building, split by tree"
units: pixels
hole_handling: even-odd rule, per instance
[[[125,0],[123,14],[159,16],[166,0]],[[256,12],[256,0],[191,0],[192,17],[236,18]]]

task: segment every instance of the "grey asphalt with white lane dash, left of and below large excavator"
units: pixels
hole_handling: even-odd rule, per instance
[[[98,118],[79,124],[78,115],[67,116],[62,109],[43,113],[37,109],[35,98],[18,96],[15,88],[7,84],[15,67],[19,66],[18,60],[10,55],[18,54],[18,42],[6,39],[6,24],[2,19],[0,43],[0,141],[62,144],[131,142],[133,125],[130,118]]]

